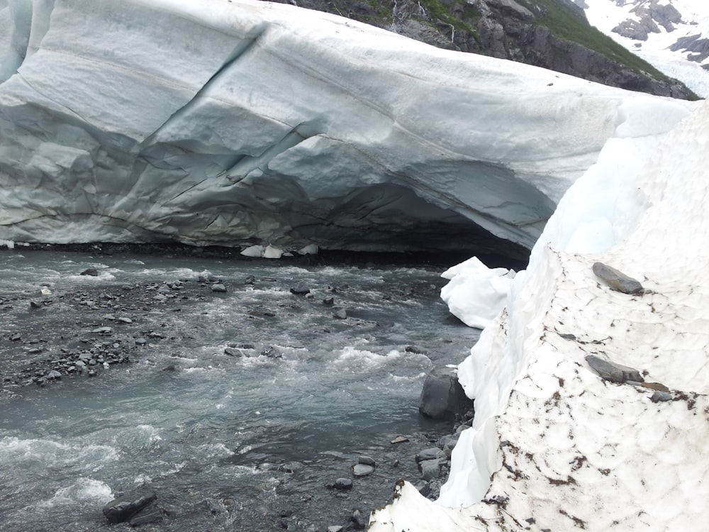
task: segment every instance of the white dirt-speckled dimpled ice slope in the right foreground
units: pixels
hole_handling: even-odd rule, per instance
[[[459,366],[476,416],[438,504],[403,484],[371,531],[707,530],[709,105],[646,141],[644,166],[611,140],[569,189]],[[609,289],[596,261],[644,294]],[[644,386],[601,379],[588,355]],[[650,399],[659,386],[669,400]]]

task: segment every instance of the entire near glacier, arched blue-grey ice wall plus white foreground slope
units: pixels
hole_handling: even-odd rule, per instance
[[[402,482],[371,531],[701,529],[709,106],[249,0],[0,0],[0,29],[0,243],[532,248],[448,272],[489,324],[474,425],[440,499]]]

